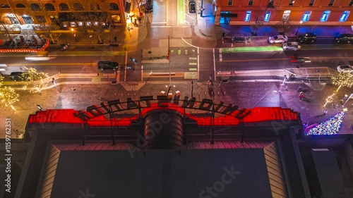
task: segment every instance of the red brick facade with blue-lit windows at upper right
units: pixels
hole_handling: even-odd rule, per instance
[[[215,24],[352,25],[353,0],[217,0]]]

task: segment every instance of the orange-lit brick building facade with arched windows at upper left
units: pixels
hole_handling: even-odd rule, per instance
[[[1,21],[6,25],[31,25],[31,24],[52,24],[61,27],[78,27],[93,25],[92,22],[72,21],[68,15],[74,13],[99,13],[101,21],[109,25],[126,25],[124,12],[124,0],[77,0],[77,1],[55,1],[55,0],[1,0],[0,16]]]

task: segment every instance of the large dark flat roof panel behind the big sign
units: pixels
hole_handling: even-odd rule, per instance
[[[263,149],[61,151],[55,175],[52,198],[272,197]]]

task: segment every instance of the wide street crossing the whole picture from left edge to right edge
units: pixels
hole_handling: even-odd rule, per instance
[[[222,53],[222,60],[217,49],[197,49],[195,47],[171,48],[170,66],[172,72],[197,72],[200,80],[208,80],[210,74],[222,70],[264,70],[303,67],[329,67],[336,69],[341,64],[353,64],[353,49],[304,49],[299,51],[252,51]],[[26,61],[31,54],[1,54],[0,63],[8,65],[4,75],[23,70],[23,66],[34,67],[37,70],[54,75],[61,73],[113,73],[112,70],[97,70],[97,61],[117,61],[121,65],[121,77],[124,80],[141,80],[140,51],[122,52],[110,51],[110,48],[96,47],[96,51],[83,51],[85,47],[75,47],[67,51],[54,49],[49,51],[48,61]],[[12,56],[13,55],[13,56]],[[137,64],[130,63],[128,57],[136,58]],[[290,56],[309,57],[311,63],[291,63]],[[215,61],[214,61],[215,60]],[[125,66],[131,70],[125,70]],[[169,64],[143,63],[144,73],[168,73]]]

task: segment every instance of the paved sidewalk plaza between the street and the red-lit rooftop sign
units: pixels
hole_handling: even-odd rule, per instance
[[[85,83],[85,82],[84,82]],[[148,82],[148,83],[131,83],[121,82],[117,85],[110,85],[108,82],[102,84],[83,83],[63,83],[58,86],[59,92],[52,86],[51,89],[43,90],[41,94],[29,94],[25,91],[18,91],[20,101],[14,106],[17,111],[11,111],[11,108],[4,109],[7,113],[2,113],[1,118],[11,118],[14,130],[18,129],[24,132],[25,123],[28,114],[37,111],[36,105],[45,109],[76,109],[85,110],[88,106],[99,105],[103,101],[121,99],[126,101],[127,98],[137,100],[140,96],[153,95],[156,97],[161,91],[167,92],[169,82]],[[193,86],[193,93],[191,87]],[[304,99],[299,99],[299,86],[304,92]],[[340,92],[334,97],[333,103],[328,104],[325,108],[325,98],[333,93],[336,87],[326,85],[324,83],[316,84],[285,84],[282,82],[214,82],[213,86],[208,87],[207,83],[196,82],[172,82],[171,92],[177,90],[181,92],[181,98],[196,97],[197,100],[213,99],[215,103],[224,101],[225,104],[238,105],[239,108],[251,109],[256,106],[277,107],[294,109],[301,113],[303,123],[309,125],[313,123],[321,123],[330,118],[335,113],[342,111],[342,97],[344,94],[350,93],[349,89],[341,88]],[[102,98],[102,100],[97,99]],[[352,109],[353,100],[345,104],[345,107]],[[327,110],[327,115],[323,116],[323,111]],[[345,118],[340,133],[353,133],[352,111],[345,112]],[[5,115],[6,114],[6,115]],[[4,123],[0,123],[4,125]],[[4,135],[4,134],[0,134]]]

